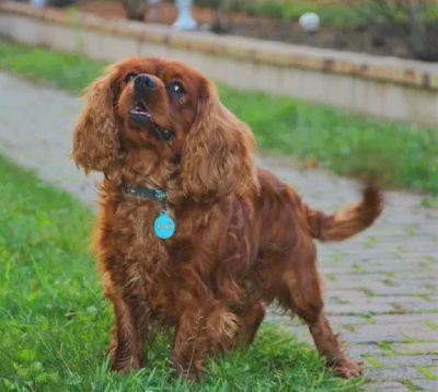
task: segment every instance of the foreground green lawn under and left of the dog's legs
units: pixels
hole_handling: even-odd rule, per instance
[[[0,391],[357,391],[314,350],[262,328],[256,344],[210,360],[203,382],[170,380],[170,337],[128,377],[107,369],[111,305],[87,251],[92,212],[0,157]]]

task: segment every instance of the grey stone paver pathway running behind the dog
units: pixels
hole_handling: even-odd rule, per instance
[[[0,72],[0,153],[95,206],[94,178],[68,160],[81,105],[65,92]],[[313,208],[328,212],[358,197],[355,182],[331,173],[298,170],[286,159],[258,163]],[[319,245],[328,319],[350,355],[366,362],[367,391],[438,391],[438,210],[422,207],[422,199],[387,193],[384,214],[370,230]],[[278,312],[268,319],[310,339],[306,326]]]

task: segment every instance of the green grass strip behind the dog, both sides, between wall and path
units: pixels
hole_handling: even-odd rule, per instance
[[[104,65],[79,55],[0,39],[0,69],[79,93]],[[378,120],[324,105],[219,87],[254,130],[262,151],[316,160],[344,175],[438,194],[438,129]]]

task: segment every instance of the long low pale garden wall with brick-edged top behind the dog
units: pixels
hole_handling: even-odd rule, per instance
[[[162,56],[216,81],[422,125],[438,124],[438,65],[319,49],[90,14],[0,4],[0,34],[116,61]]]

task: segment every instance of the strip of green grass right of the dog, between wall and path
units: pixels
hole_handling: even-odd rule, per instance
[[[315,159],[344,175],[390,187],[438,193],[438,130],[221,87],[221,97],[247,122],[263,150]]]

